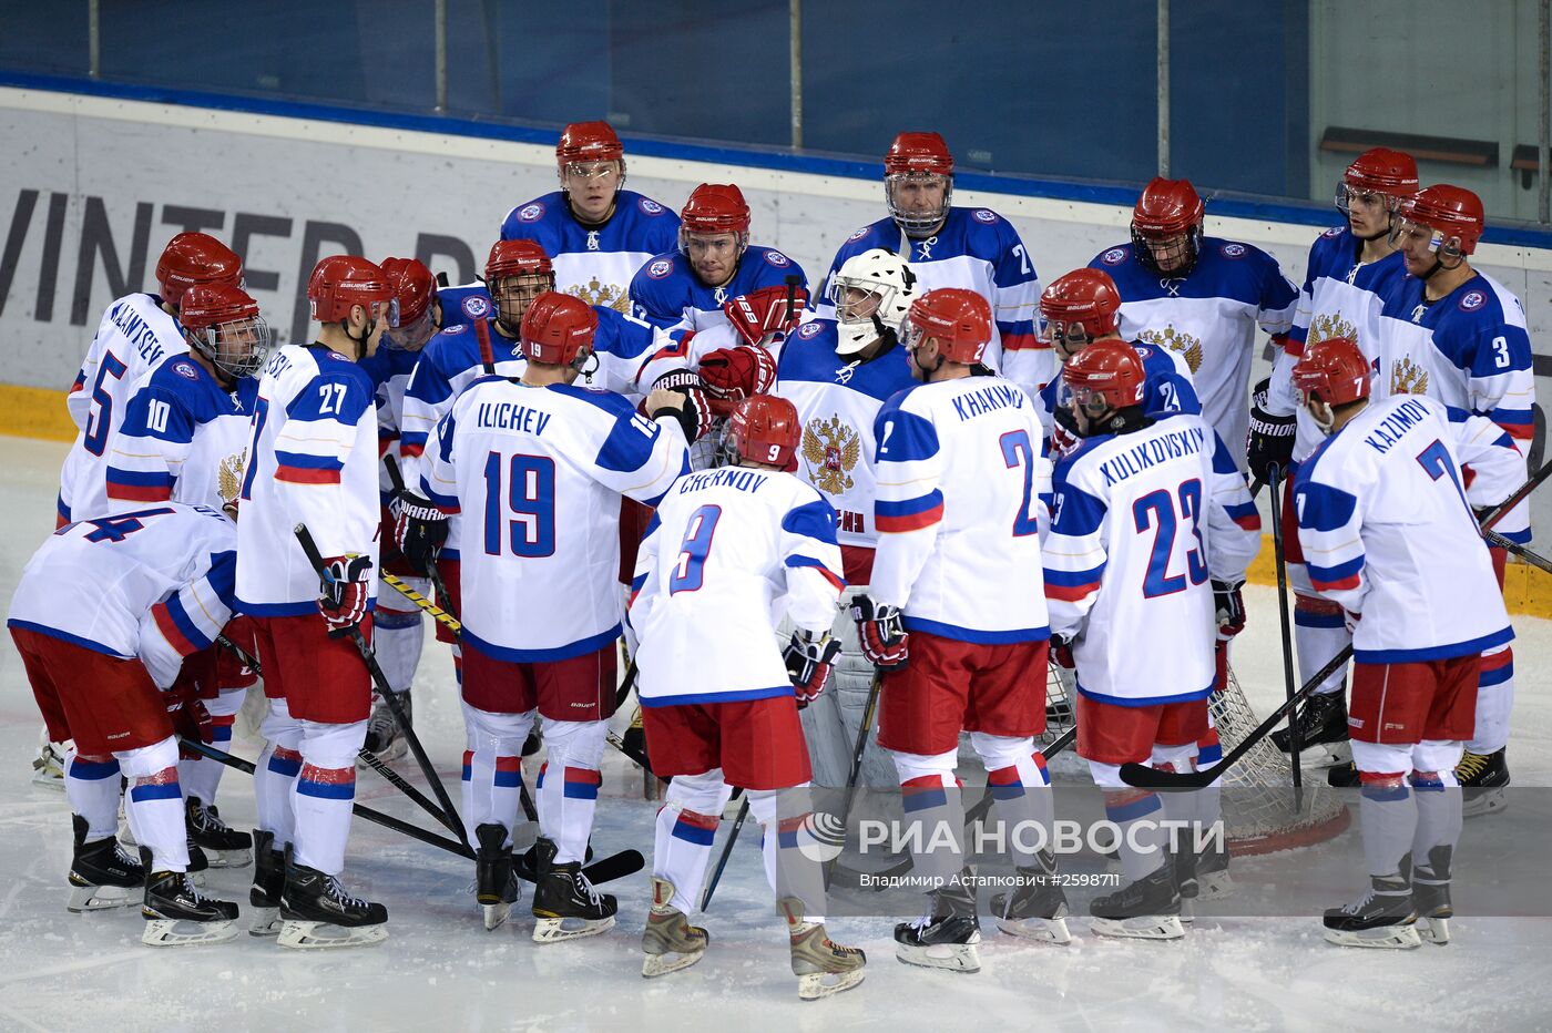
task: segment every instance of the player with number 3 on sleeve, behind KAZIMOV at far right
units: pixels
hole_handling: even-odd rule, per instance
[[[1530,337],[1519,299],[1471,268],[1484,226],[1482,200],[1468,189],[1439,183],[1405,200],[1397,216],[1406,276],[1392,279],[1384,295],[1377,392],[1426,394],[1485,416],[1527,451],[1535,406]],[[1510,541],[1529,541],[1530,506],[1515,507],[1496,530]],[[1504,552],[1495,549],[1499,583],[1504,560]],[[1509,645],[1493,647],[1482,656],[1476,732],[1457,771],[1467,814],[1491,813],[1507,803],[1513,703],[1515,655]]]

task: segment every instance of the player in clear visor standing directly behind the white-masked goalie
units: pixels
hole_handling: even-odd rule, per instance
[[[889,214],[841,244],[816,296],[815,310],[833,315],[835,275],[871,248],[911,264],[922,290],[964,287],[992,302],[992,341],[981,361],[1031,396],[1055,372],[1040,337],[1040,276],[1018,230],[989,208],[954,208],[954,157],[937,133],[903,132],[883,157]]]

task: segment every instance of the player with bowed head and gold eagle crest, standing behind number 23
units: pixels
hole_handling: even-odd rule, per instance
[[[1131,211],[1131,244],[1088,265],[1121,290],[1121,335],[1181,354],[1201,413],[1245,468],[1256,329],[1280,346],[1297,288],[1260,248],[1203,236],[1206,206],[1189,180],[1153,178]]]

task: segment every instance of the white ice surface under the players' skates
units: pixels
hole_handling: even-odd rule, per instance
[[[53,527],[64,447],[0,439],[0,597]],[[1235,664],[1257,710],[1282,696],[1276,594],[1246,589],[1249,628]],[[1552,785],[1552,622],[1518,619],[1519,696],[1510,748],[1516,785]],[[999,935],[986,921],[975,976],[894,960],[891,924],[830,923],[868,949],[855,991],[799,1002],[782,928],[747,828],[705,924],[706,959],[646,982],[639,931],[647,876],[613,883],[616,929],[537,946],[531,920],[484,932],[459,858],[357,821],[348,883],[386,903],[390,940],[340,952],[289,952],[242,935],[228,945],[154,951],[135,909],[65,912],[70,821],[62,793],[29,783],[39,717],[9,637],[0,647],[0,1030],[726,1030],[849,1027],[917,1033],[956,1028],[1481,1030],[1547,1028],[1552,920],[1459,918],[1448,948],[1352,951],[1321,940],[1318,917],[1198,923],[1181,943],[1107,941],[1071,920],[1071,946]],[[427,642],[416,729],[456,794],[462,732],[452,662]],[[253,755],[255,743],[239,741]],[[405,763],[396,765],[410,772]],[[528,772],[529,780],[534,771]],[[422,783],[419,774],[411,780]],[[424,785],[424,783],[422,783]],[[610,752],[594,844],[650,853],[653,803]],[[424,819],[371,772],[360,800]],[[456,796],[455,796],[456,799]],[[236,827],[253,821],[247,779],[219,797]],[[1482,821],[1499,821],[1495,817]],[[726,825],[723,828],[726,834]],[[1346,833],[1355,836],[1355,831]],[[720,845],[720,839],[719,839]],[[248,869],[214,872],[208,889],[247,907]],[[1352,886],[1360,878],[1353,872]],[[1350,886],[1333,889],[1332,903]],[[525,904],[526,904],[525,893]]]

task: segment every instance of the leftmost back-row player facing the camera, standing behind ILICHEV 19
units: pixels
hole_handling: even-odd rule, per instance
[[[556,161],[560,189],[508,212],[501,239],[545,248],[560,293],[630,312],[630,278],[678,247],[678,216],[625,189],[625,149],[608,123],[566,126]]]

